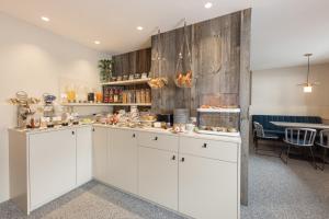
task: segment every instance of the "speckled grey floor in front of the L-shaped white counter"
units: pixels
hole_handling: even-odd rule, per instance
[[[29,217],[13,203],[2,203],[0,219],[183,219],[183,217],[93,181],[38,208]]]

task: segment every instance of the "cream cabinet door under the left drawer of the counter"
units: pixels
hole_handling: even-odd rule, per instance
[[[139,195],[178,210],[178,154],[152,148],[138,148]]]

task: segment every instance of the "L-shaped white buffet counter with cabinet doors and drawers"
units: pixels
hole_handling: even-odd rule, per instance
[[[27,214],[94,178],[184,216],[239,218],[240,137],[92,124],[9,141],[11,197]]]

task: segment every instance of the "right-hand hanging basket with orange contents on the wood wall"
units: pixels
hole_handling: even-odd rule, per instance
[[[188,51],[188,55],[184,55],[184,50]],[[174,83],[178,88],[192,88],[193,85],[192,57],[186,33],[186,22],[184,22],[183,42],[175,66]]]

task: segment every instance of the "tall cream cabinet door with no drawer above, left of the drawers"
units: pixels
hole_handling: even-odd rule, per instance
[[[137,194],[137,142],[132,130],[110,129],[109,182],[123,191]]]

